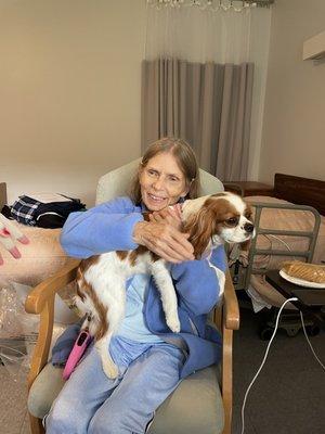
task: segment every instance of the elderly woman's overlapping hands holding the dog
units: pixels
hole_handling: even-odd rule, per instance
[[[193,245],[187,233],[180,232],[180,209],[165,208],[153,213],[151,221],[140,221],[134,227],[135,243],[145,245],[169,263],[179,264],[193,260]]]

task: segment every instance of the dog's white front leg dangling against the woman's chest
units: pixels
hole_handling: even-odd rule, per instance
[[[160,292],[167,326],[172,332],[178,333],[181,330],[178,314],[178,297],[170,272],[164,260],[156,260],[152,264],[152,275]]]

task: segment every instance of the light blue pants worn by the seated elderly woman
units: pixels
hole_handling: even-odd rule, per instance
[[[143,434],[157,407],[180,382],[181,349],[114,337],[119,376],[103,372],[94,347],[65,383],[46,417],[47,434]]]

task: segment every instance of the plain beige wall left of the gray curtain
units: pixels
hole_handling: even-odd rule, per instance
[[[9,203],[96,181],[140,156],[143,0],[0,4],[0,180]]]

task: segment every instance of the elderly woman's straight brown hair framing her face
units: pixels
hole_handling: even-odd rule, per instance
[[[184,174],[186,187],[188,189],[186,197],[195,199],[198,196],[199,170],[195,153],[185,140],[165,137],[152,143],[141,159],[139,169],[130,188],[130,197],[136,205],[141,203],[141,188],[139,182],[140,170],[147,165],[150,159],[164,152],[172,153],[180,169]]]

